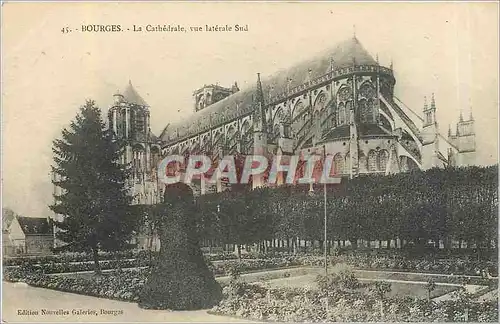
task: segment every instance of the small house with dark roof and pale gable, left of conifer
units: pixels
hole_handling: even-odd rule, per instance
[[[47,218],[16,216],[9,227],[9,241],[15,254],[50,254],[52,226]]]

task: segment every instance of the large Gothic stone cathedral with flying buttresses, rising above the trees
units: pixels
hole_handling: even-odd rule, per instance
[[[194,111],[151,132],[148,104],[129,84],[115,94],[109,125],[128,145],[123,162],[134,170],[136,203],[161,200],[156,166],[163,156],[268,154],[333,156],[335,172],[346,177],[390,174],[475,163],[472,115],[460,116],[456,133],[439,132],[438,104],[424,99],[423,118],[411,114],[395,95],[392,63],[382,66],[356,37],[330,51],[280,71],[257,75],[254,87],[240,90],[205,85],[193,93]],[[259,186],[254,181],[254,186]],[[200,180],[198,194],[224,190]]]

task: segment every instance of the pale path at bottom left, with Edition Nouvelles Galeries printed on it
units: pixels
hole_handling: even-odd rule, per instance
[[[2,282],[2,322],[247,322],[200,311],[145,310],[136,303]],[[54,314],[42,315],[43,310]],[[104,310],[102,312],[101,310]],[[21,315],[32,312],[32,315]],[[33,312],[38,312],[34,315]],[[58,313],[59,312],[59,313]],[[77,313],[80,312],[80,315]],[[66,313],[66,314],[63,314]]]

